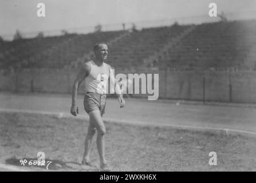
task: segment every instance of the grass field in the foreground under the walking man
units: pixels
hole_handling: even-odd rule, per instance
[[[87,127],[88,121],[76,118],[1,112],[1,162],[21,166],[19,160],[37,160],[42,151],[52,161],[49,170],[97,171],[96,144],[93,167],[80,165]],[[106,127],[107,160],[115,171],[256,171],[253,136],[115,123]],[[210,152],[217,153],[217,166],[208,165]]]

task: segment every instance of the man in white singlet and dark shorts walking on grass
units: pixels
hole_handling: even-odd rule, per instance
[[[88,133],[85,138],[84,156],[82,158],[82,164],[91,165],[90,162],[90,150],[92,148],[93,136],[97,130],[97,150],[100,156],[100,168],[109,171],[111,166],[105,159],[105,140],[104,135],[106,128],[103,122],[103,114],[105,112],[105,102],[107,93],[108,78],[110,83],[115,85],[115,75],[105,60],[108,57],[108,46],[105,43],[97,43],[93,47],[95,59],[84,63],[74,81],[72,90],[72,106],[70,113],[73,116],[77,116],[77,90],[82,81],[85,81],[85,97],[84,97],[84,109],[89,114],[89,127]],[[125,101],[121,94],[120,86],[116,84],[111,85],[111,89],[115,90],[118,100],[120,102],[120,108],[123,108]]]

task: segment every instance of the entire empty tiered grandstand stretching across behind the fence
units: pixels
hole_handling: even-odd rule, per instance
[[[66,34],[2,41],[1,68],[78,67],[92,45],[109,43],[108,62],[116,68],[174,70],[255,69],[256,21],[172,25],[137,31]],[[86,56],[86,57],[85,57]]]

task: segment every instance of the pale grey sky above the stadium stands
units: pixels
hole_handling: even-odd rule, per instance
[[[38,31],[106,29],[121,23],[166,23],[170,19],[208,17],[210,3],[233,17],[256,18],[256,0],[0,0],[0,36]],[[37,17],[37,4],[45,4],[45,17]],[[210,17],[208,17],[210,18]]]

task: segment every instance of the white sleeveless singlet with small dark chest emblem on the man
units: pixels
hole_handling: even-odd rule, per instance
[[[91,93],[106,94],[109,78],[109,67],[107,63],[97,66],[93,61],[89,61],[90,73],[85,77],[85,91]]]

